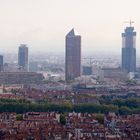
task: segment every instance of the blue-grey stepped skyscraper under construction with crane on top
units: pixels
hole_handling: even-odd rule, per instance
[[[131,24],[122,33],[122,69],[127,72],[136,71],[136,32]]]

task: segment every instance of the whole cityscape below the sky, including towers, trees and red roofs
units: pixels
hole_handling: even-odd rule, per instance
[[[121,58],[81,56],[81,40],[75,29],[66,35],[65,57],[29,61],[26,44],[17,56],[0,55],[0,140],[140,140],[132,22],[122,33]]]

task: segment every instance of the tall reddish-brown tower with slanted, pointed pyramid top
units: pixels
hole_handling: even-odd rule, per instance
[[[81,36],[72,29],[66,35],[65,80],[74,80],[81,75]]]

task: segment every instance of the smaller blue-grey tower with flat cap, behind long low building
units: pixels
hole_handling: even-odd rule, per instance
[[[28,65],[28,47],[26,44],[21,44],[18,50],[19,70],[28,72]]]

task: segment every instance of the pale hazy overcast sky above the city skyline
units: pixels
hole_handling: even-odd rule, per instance
[[[65,35],[75,28],[82,51],[120,52],[121,32],[134,20],[140,47],[140,0],[0,0],[0,52],[64,51]]]

